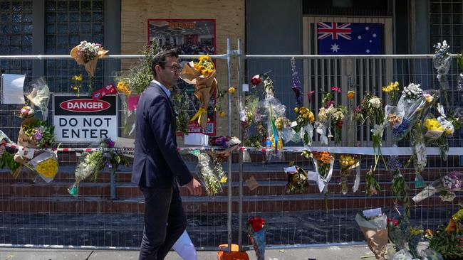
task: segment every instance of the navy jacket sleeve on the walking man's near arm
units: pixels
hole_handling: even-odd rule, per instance
[[[147,109],[147,119],[162,156],[172,173],[177,175],[179,184],[183,186],[189,183],[193,176],[177,151],[176,131],[172,129],[172,114],[168,102],[167,98],[163,96],[155,97]]]

